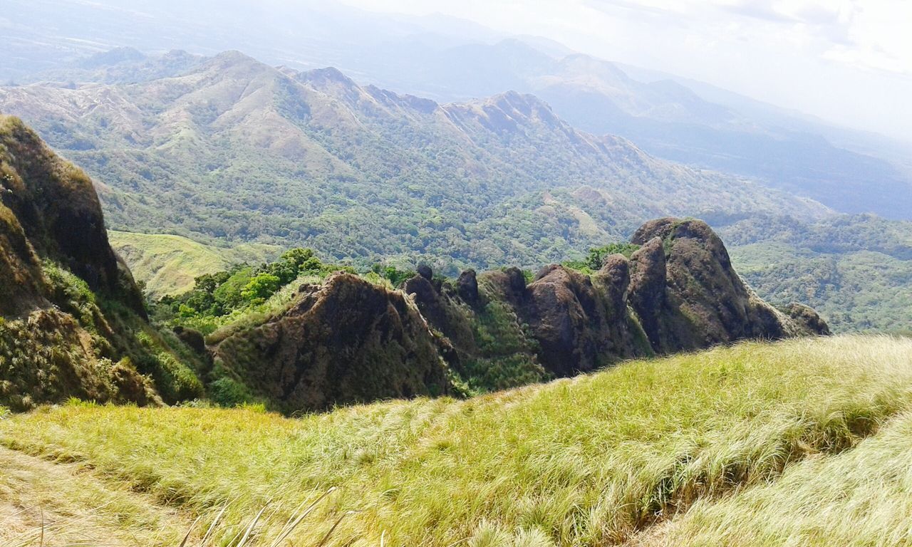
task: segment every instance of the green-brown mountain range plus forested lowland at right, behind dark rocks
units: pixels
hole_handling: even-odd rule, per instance
[[[200,243],[224,256],[212,264],[244,254],[220,247],[307,245],[362,266],[423,260],[456,274],[578,258],[674,214],[735,243],[776,304],[814,304],[836,330],[912,327],[896,290],[912,278],[907,222],[841,216],[765,181],[658,160],[575,129],[534,96],[440,104],[236,52],[120,49],[67,73],[76,79],[0,88],[0,110],[88,170],[110,228],[194,240],[147,238],[158,258],[121,248],[152,294],[211,273],[186,254]],[[186,269],[158,274],[177,255]]]

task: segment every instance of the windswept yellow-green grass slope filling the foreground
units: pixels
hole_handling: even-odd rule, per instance
[[[342,516],[327,544],[894,545],[912,544],[909,411],[912,340],[844,336],[300,419],[47,408],[0,422],[0,442],[84,461],[203,523],[232,501],[217,544],[272,500],[256,543],[269,545],[337,486],[295,545]]]

